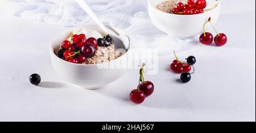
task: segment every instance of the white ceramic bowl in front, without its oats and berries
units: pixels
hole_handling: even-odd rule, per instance
[[[85,25],[79,28],[94,29],[100,31],[97,25]],[[59,50],[60,48],[60,44],[65,40],[65,38],[68,38],[69,33],[71,33],[73,29],[75,28],[72,28],[68,31],[61,33],[59,36],[53,38],[51,42],[51,61],[57,74],[59,74],[64,80],[68,81],[69,83],[72,83],[85,89],[98,89],[105,87],[106,85],[112,83],[113,81],[120,78],[123,74],[125,74],[126,68],[102,68],[106,66],[117,65],[122,62],[127,62],[125,56],[127,55],[130,49],[130,38],[127,39],[128,41],[126,40],[127,42],[124,43],[122,38],[118,38],[117,35],[114,35],[114,32],[110,33],[110,36],[114,38],[115,47],[117,49],[121,48],[125,50],[125,53],[121,57],[115,59],[114,61],[106,62],[99,65],[80,65],[70,63],[58,58],[55,53],[57,53],[57,50]],[[122,35],[126,35],[126,33],[120,29],[113,29],[115,29],[115,31]]]

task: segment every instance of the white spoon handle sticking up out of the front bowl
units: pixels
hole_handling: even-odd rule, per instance
[[[108,30],[106,29],[105,25],[101,23],[100,19],[94,14],[94,12],[90,9],[90,7],[83,1],[83,0],[76,0],[76,2],[84,9],[84,11],[97,23],[101,29],[108,35]]]

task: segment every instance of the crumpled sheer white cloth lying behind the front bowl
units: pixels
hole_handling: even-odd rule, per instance
[[[192,39],[180,40],[159,31],[147,14],[146,0],[85,0],[104,24],[125,30],[139,49],[158,49],[159,54],[189,49]],[[2,8],[15,16],[64,27],[93,23],[73,0],[4,0]],[[10,6],[11,5],[11,6]],[[3,9],[5,10],[5,9]]]

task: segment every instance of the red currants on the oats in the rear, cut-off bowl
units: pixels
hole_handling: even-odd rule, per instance
[[[188,0],[187,4],[177,3],[177,6],[172,10],[173,14],[180,15],[193,15],[193,14],[202,14],[204,13],[204,8],[207,6],[205,0]]]

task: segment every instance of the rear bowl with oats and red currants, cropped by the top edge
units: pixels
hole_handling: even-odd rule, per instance
[[[209,17],[215,24],[220,16],[220,7],[220,0],[148,0],[148,15],[160,31],[188,38],[202,33]]]

